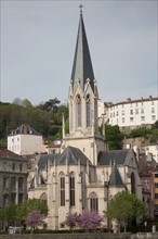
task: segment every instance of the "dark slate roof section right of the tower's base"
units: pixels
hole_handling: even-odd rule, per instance
[[[101,151],[97,156],[97,165],[113,165],[114,162],[116,162],[117,165],[124,164],[131,151],[131,149]]]

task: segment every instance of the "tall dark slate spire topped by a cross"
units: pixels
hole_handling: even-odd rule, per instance
[[[80,5],[80,20],[77,35],[76,51],[74,58],[74,65],[71,72],[71,80],[75,86],[76,81],[79,80],[81,88],[84,89],[87,79],[90,79],[92,89],[94,89],[94,74],[93,67],[87,40],[87,34],[82,16],[82,5]]]

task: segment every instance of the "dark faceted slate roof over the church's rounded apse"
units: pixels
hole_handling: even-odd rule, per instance
[[[56,160],[57,165],[60,164],[77,165],[78,163],[80,163],[81,165],[87,165],[87,162],[91,164],[89,159],[81,152],[81,150],[75,147],[67,147]]]

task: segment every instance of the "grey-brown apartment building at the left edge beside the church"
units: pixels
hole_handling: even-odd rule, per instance
[[[0,207],[27,199],[27,160],[0,149]]]

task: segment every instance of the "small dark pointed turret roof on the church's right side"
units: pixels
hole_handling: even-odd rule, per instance
[[[109,176],[109,186],[123,186],[116,163],[113,164],[111,174]]]

